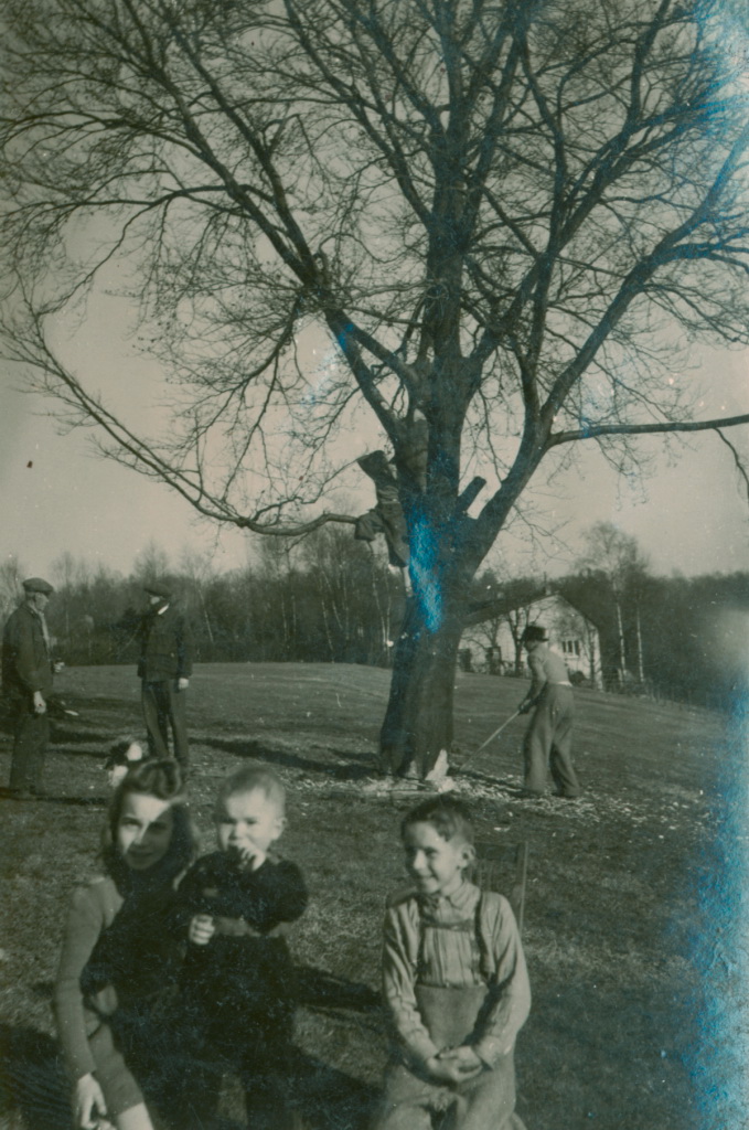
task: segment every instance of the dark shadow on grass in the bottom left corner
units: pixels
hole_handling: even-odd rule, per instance
[[[54,1041],[34,1028],[0,1025],[0,1125],[72,1130],[69,1085]],[[7,1121],[6,1121],[7,1120]]]

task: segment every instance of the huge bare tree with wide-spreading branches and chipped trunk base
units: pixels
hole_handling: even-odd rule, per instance
[[[749,99],[723,12],[746,19],[718,0],[3,7],[7,356],[116,458],[276,534],[351,521],[308,507],[366,406],[413,584],[391,764],[450,747],[470,582],[542,463],[589,441],[625,467],[638,435],[749,420],[695,419],[677,353],[748,338]],[[163,441],[64,362],[86,293],[122,279],[171,375]],[[477,472],[498,486],[470,516]]]

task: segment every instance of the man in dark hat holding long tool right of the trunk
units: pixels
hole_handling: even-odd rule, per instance
[[[523,741],[524,796],[543,796],[550,768],[558,797],[580,797],[572,760],[572,684],[565,661],[551,651],[546,628],[540,624],[529,624],[522,642],[528,651],[532,681],[519,713],[533,711]]]

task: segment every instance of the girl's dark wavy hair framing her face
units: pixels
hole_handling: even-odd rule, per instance
[[[174,828],[166,855],[157,868],[159,881],[176,878],[198,853],[198,836],[190,819],[178,765],[171,758],[148,757],[143,762],[137,762],[114,790],[102,835],[104,868],[121,892],[132,884],[131,869],[117,850],[117,824],[122,803],[131,792],[168,801],[172,810]]]

